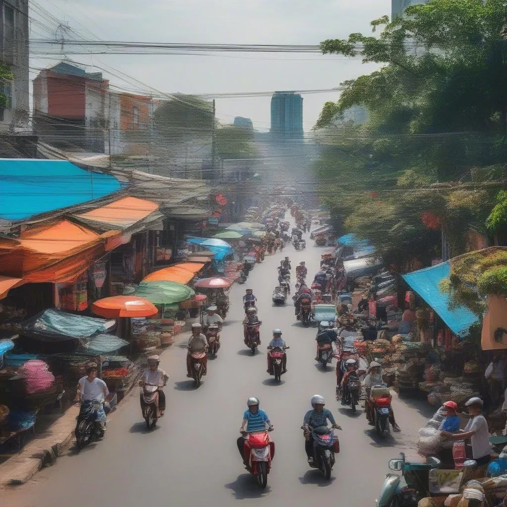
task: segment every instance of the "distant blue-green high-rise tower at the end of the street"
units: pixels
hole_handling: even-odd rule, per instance
[[[275,92],[271,97],[271,133],[303,135],[303,97],[294,92]]]

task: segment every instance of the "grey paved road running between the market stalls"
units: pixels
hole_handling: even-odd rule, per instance
[[[308,241],[308,238],[307,238]],[[313,360],[315,330],[296,323],[294,308],[273,307],[271,293],[276,266],[289,255],[293,268],[305,260],[309,278],[319,266],[322,248],[308,241],[296,252],[289,246],[280,255],[266,257],[249,276],[259,299],[263,343],[255,357],[243,345],[241,296],[246,285],[232,289],[231,311],[223,332],[218,358],[208,361],[204,383],[194,389],[186,378],[183,336],[162,358],[162,368],[171,378],[166,388],[167,412],[159,427],[144,430],[134,390],[111,417],[106,438],[79,454],[70,450],[56,464],[43,470],[34,481],[3,491],[6,505],[16,507],[75,507],[95,505],[220,505],[239,500],[260,500],[263,505],[309,505],[317,501],[374,505],[387,461],[411,446],[415,432],[431,410],[425,403],[394,399],[396,419],[402,426],[384,441],[378,441],[362,410],[352,416],[334,399],[334,368],[322,371]],[[293,277],[295,272],[293,271]],[[288,372],[277,385],[266,373],[266,350],[272,328],[280,327],[291,346]],[[341,453],[330,482],[306,463],[302,431],[299,429],[310,397],[322,394],[337,422]],[[265,491],[243,469],[236,448],[238,428],[248,396],[258,396],[275,431],[276,456]]]

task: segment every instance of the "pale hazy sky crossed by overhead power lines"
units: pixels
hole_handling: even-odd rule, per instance
[[[390,0],[39,0],[30,2],[31,38],[55,38],[58,20],[84,39],[209,44],[318,44],[352,32],[370,33],[370,21],[390,14]],[[42,7],[49,11],[49,19]],[[61,28],[58,31],[61,36]],[[75,33],[73,37],[79,39]],[[63,56],[63,55],[62,55]],[[31,60],[32,78],[56,57]],[[295,53],[213,53],[199,55],[68,55],[87,65],[120,70],[164,93],[267,92],[331,89],[375,69],[360,59]],[[100,68],[99,68],[100,70]],[[142,92],[138,82],[121,82],[115,71],[103,72],[112,84]],[[303,94],[303,127],[309,131],[325,101],[338,92]],[[251,118],[269,129],[270,97],[216,99],[224,124],[235,116]]]

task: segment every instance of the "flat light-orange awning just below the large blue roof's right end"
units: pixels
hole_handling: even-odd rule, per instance
[[[147,219],[157,211],[159,204],[136,197],[124,197],[100,208],[74,215],[88,225],[96,225],[103,229],[128,229],[137,222]],[[155,220],[163,216],[156,213]]]

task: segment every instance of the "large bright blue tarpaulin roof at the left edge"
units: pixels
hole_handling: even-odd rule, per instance
[[[67,160],[0,159],[0,218],[10,221],[74,206],[118,192],[110,174]]]

